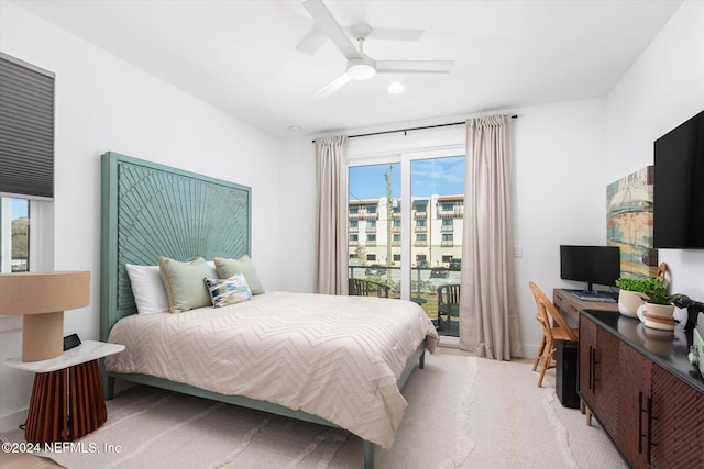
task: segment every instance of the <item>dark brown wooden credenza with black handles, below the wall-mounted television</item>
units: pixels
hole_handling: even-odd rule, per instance
[[[704,467],[704,380],[688,351],[681,326],[580,314],[580,397],[630,467]]]

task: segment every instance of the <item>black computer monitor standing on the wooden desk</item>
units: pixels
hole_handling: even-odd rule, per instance
[[[594,283],[615,287],[619,277],[620,249],[618,246],[560,245],[560,278],[585,282],[583,291],[585,295],[600,297],[601,294],[610,298],[609,294],[594,290]]]

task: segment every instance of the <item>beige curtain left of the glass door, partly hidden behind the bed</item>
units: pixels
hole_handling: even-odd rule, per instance
[[[346,139],[346,135],[316,138],[316,293],[348,294]]]

